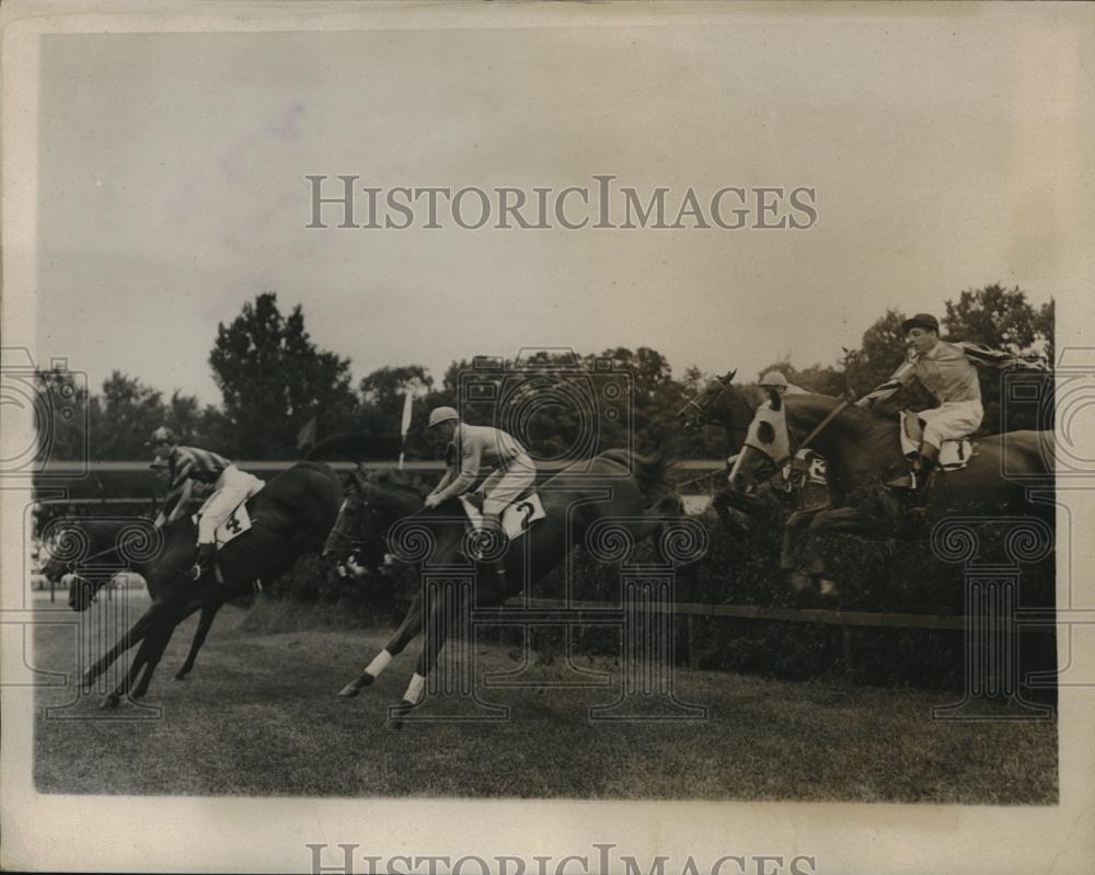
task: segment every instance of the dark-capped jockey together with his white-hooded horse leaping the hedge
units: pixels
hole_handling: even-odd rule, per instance
[[[796,450],[817,450],[826,460],[828,504],[800,510],[786,522],[781,571],[796,590],[834,591],[825,579],[818,538],[826,532],[868,538],[926,537],[931,527],[956,511],[999,515],[1048,514],[1033,506],[1026,484],[1046,481],[1053,470],[1051,431],[1012,431],[978,438],[972,458],[960,470],[932,477],[941,445],[977,428],[980,387],[975,366],[1045,371],[1038,362],[938,339],[938,325],[921,314],[906,322],[914,353],[894,378],[856,405],[817,394],[765,395],[757,387],[734,387],[731,371],[690,407],[705,419],[717,417],[742,447],[730,487],[749,496],[773,476]],[[901,446],[901,424],[877,402],[919,379],[940,402],[919,418],[926,423],[910,477]],[[878,407],[876,411],[875,407]],[[798,557],[799,539],[804,554]]]

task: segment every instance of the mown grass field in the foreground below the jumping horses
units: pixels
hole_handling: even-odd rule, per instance
[[[126,596],[120,595],[119,598]],[[130,608],[147,602],[130,592]],[[93,611],[105,610],[100,603]],[[134,617],[137,614],[134,613]],[[70,615],[76,620],[74,615]],[[396,659],[357,699],[335,692],[383,645],[383,631],[249,632],[226,608],[189,680],[172,676],[195,619],[175,634],[147,703],[102,719],[78,699],[74,626],[39,626],[34,660],[73,682],[43,688],[35,782],[46,793],[307,796],[509,796],[1051,804],[1054,723],[937,723],[925,691],[792,683],[678,670],[681,700],[708,707],[693,722],[591,723],[612,688],[491,689],[504,723],[385,725],[414,669]],[[94,617],[82,618],[91,622]],[[503,647],[476,665],[512,671]],[[579,664],[619,671],[613,660]],[[544,680],[564,677],[537,666]],[[618,679],[618,676],[616,676]],[[45,706],[65,707],[46,717]],[[429,713],[431,704],[424,705]],[[459,712],[459,706],[458,706]],[[468,713],[470,707],[465,710]],[[76,718],[72,718],[76,717]],[[118,719],[130,717],[130,719]]]

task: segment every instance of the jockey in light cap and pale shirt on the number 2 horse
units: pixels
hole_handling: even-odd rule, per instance
[[[426,507],[434,508],[463,495],[484,470],[493,469],[479,492],[483,496],[484,530],[500,532],[502,513],[535,483],[537,468],[528,451],[502,429],[461,422],[453,407],[435,408],[427,427],[438,442],[448,445],[448,468],[437,487],[426,496]],[[494,571],[504,575],[504,561],[497,561]],[[498,583],[502,584],[500,577]]]

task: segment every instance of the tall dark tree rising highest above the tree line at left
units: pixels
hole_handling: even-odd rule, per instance
[[[298,433],[315,415],[327,431],[357,424],[349,360],[319,349],[301,308],[284,316],[273,291],[245,303],[231,324],[217,326],[209,364],[243,459],[292,458]]]

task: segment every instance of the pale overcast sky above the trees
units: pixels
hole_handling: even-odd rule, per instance
[[[887,309],[942,315],[967,288],[1086,297],[1090,34],[1059,10],[783,9],[44,37],[37,357],[216,403],[218,323],[275,290],[355,380],[567,346],[751,373],[834,362]],[[309,229],[309,174],[527,192],[613,174],[670,204],[808,186],[818,220]]]

